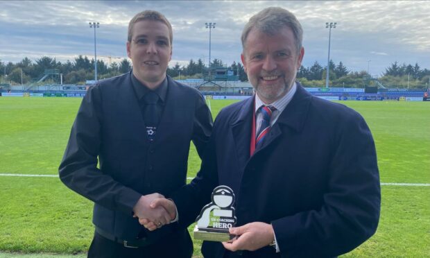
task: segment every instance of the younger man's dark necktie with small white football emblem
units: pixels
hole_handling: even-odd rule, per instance
[[[144,95],[144,121],[146,124],[146,134],[148,135],[148,139],[153,141],[155,139],[155,132],[157,132],[158,126],[158,102],[159,96],[155,92],[148,91]]]

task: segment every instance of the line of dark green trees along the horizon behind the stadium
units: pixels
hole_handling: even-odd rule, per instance
[[[239,80],[248,80],[243,65],[233,62],[231,65],[223,63],[221,59],[214,59],[211,67],[224,67],[230,69]],[[79,55],[71,62],[58,62],[55,58],[43,56],[35,62],[29,58],[23,58],[21,62],[1,62],[0,60],[0,83],[12,85],[35,83],[44,75],[46,69],[58,69],[63,76],[64,84],[85,84],[86,80],[94,80],[94,59],[89,60],[87,56]],[[107,64],[103,60],[97,60],[98,79],[110,78],[124,74],[131,69],[130,62],[123,58],[120,62]],[[187,65],[175,63],[167,69],[167,74],[175,79],[202,78],[207,74],[207,65],[200,58],[197,61],[189,60]],[[300,67],[297,79],[305,87],[322,87],[325,85],[326,67],[317,61],[311,67]],[[47,78],[44,83],[58,83],[58,78]],[[383,76],[377,79],[385,87],[391,88],[428,88],[430,86],[430,70],[422,69],[418,63],[415,65],[399,64],[394,62]],[[332,60],[329,62],[329,85],[330,87],[364,87],[376,85],[375,78],[371,78],[367,71],[350,71],[343,62],[336,65]]]

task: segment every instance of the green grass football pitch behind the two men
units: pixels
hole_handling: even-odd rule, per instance
[[[0,97],[0,173],[56,175],[80,101]],[[232,102],[210,100],[214,117]],[[341,103],[368,122],[381,182],[430,183],[430,103]],[[188,176],[196,175],[199,166],[191,148]],[[377,233],[343,257],[429,257],[430,187],[381,189]],[[85,257],[93,234],[89,200],[56,177],[0,176],[0,196],[0,257]],[[200,257],[200,242],[194,243],[194,255]]]

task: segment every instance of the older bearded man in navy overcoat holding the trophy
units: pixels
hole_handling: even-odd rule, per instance
[[[152,207],[178,211],[187,226],[214,187],[235,195],[237,237],[205,241],[205,257],[334,257],[375,233],[380,187],[375,144],[354,110],[295,82],[302,27],[282,8],[251,17],[241,60],[255,96],[216,117],[200,172]],[[155,230],[147,219],[139,220]]]

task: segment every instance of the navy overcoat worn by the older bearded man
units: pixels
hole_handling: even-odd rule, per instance
[[[333,257],[372,236],[379,221],[379,172],[363,118],[298,85],[250,157],[253,103],[253,97],[234,103],[216,117],[200,172],[173,196],[179,222],[193,222],[214,187],[224,184],[236,195],[236,225],[271,223],[280,248],[278,254],[267,246],[244,257]],[[202,252],[222,257],[225,250],[205,242]]]

